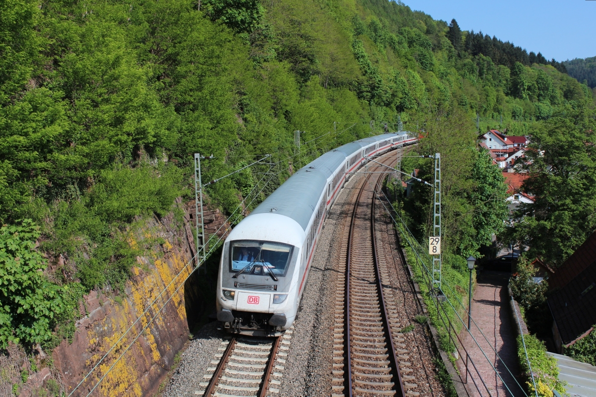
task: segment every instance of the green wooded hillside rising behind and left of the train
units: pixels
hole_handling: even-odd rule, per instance
[[[477,133],[592,123],[592,91],[539,54],[387,0],[1,0],[0,347],[51,349],[84,293],[122,290],[131,231],[194,198],[197,152],[204,181],[272,155],[207,186],[237,223],[243,199],[402,123],[442,153],[445,249],[465,266],[507,216]]]

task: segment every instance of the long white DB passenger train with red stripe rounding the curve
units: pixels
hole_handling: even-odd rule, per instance
[[[300,168],[225,239],[217,318],[229,332],[278,336],[294,322],[325,216],[367,158],[417,142],[413,133],[356,140]]]

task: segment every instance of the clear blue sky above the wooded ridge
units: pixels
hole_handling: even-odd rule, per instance
[[[596,1],[594,0],[402,0],[412,10],[461,30],[513,42],[528,52],[564,61],[596,57]]]

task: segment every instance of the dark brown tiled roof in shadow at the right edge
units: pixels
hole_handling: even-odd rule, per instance
[[[596,323],[596,233],[555,271],[548,286],[548,307],[564,344]]]

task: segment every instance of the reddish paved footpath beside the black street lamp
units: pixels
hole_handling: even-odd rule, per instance
[[[513,397],[525,396],[525,393],[517,386],[516,380],[509,373],[511,371],[514,376],[518,377],[518,382],[521,383],[517,362],[516,334],[513,329],[514,324],[507,294],[508,280],[509,274],[500,271],[482,271],[477,278],[471,311],[472,318],[477,326],[472,323],[471,329],[474,339],[477,340],[484,354],[467,331],[462,330],[461,332],[465,349],[477,368],[476,371],[469,364],[469,374],[474,377],[477,385],[476,387],[474,382],[468,378],[466,389],[470,396],[512,397],[512,393]],[[478,327],[482,329],[484,336],[480,333]],[[462,357],[457,361],[457,364],[461,376],[465,379],[465,355],[463,351],[461,351],[461,354]],[[497,354],[502,361],[499,360]],[[493,367],[496,368],[498,375]],[[479,375],[482,376],[486,386],[482,384]],[[502,381],[505,382],[511,392],[507,390]]]

